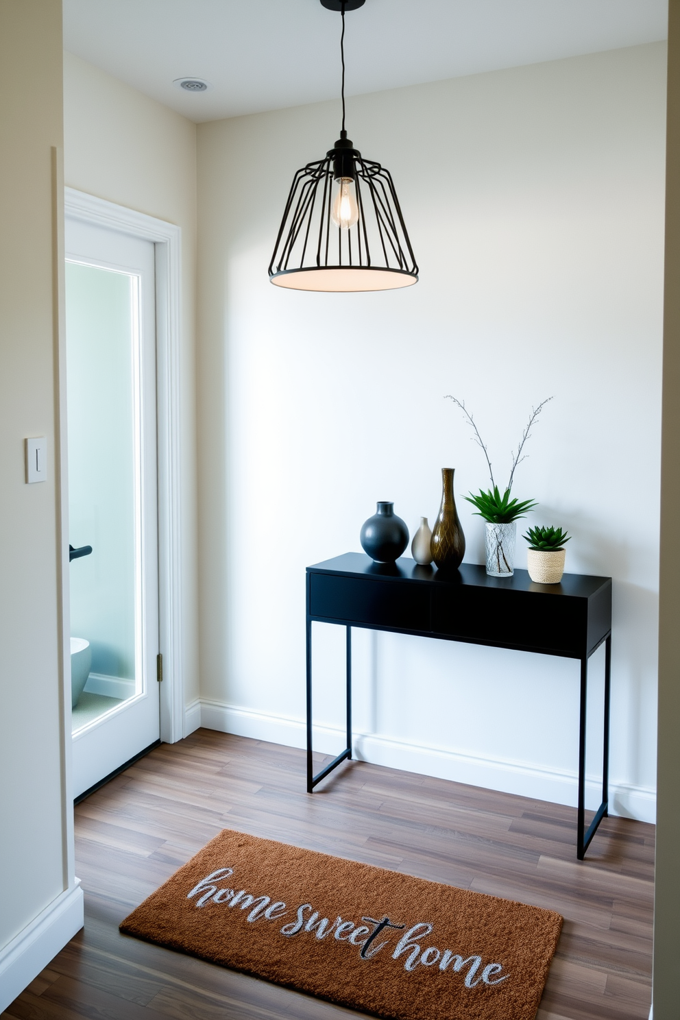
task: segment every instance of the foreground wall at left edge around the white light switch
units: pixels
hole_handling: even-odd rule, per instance
[[[72,881],[55,458],[60,0],[0,0],[0,96],[1,950]],[[28,436],[48,443],[48,480],[32,486]]]

